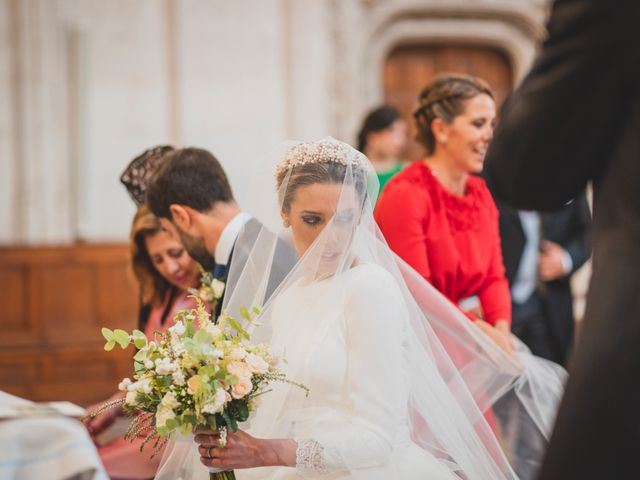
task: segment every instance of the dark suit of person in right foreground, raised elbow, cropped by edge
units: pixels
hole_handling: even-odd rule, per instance
[[[558,0],[505,103],[486,167],[499,198],[554,209],[594,184],[593,276],[540,478],[640,475],[640,2]]]

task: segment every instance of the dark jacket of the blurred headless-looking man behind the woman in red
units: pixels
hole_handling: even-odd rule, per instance
[[[524,252],[526,237],[518,211],[503,202],[497,202],[500,211],[500,238],[502,256],[509,284],[512,285],[518,273]],[[572,270],[568,275],[551,282],[545,282],[538,295],[545,309],[547,328],[551,337],[554,360],[565,364],[573,333],[573,296],[569,280],[589,258],[591,214],[586,195],[583,193],[557,212],[541,215],[542,232],[545,240],[557,243],[571,256]]]

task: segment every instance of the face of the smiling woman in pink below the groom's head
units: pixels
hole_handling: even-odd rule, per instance
[[[147,235],[145,245],[151,263],[167,282],[181,290],[198,286],[198,265],[178,240],[173,226],[165,227],[165,230],[154,235]]]

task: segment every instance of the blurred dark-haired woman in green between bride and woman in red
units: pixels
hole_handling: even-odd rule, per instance
[[[380,191],[404,166],[399,159],[407,143],[407,125],[398,111],[386,105],[365,117],[358,133],[358,150],[364,153],[375,168]]]

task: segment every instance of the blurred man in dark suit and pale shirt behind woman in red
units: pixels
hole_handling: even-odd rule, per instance
[[[566,365],[574,335],[570,280],[590,255],[586,195],[553,213],[497,205],[511,332],[535,355]]]

